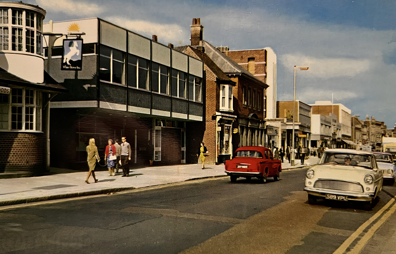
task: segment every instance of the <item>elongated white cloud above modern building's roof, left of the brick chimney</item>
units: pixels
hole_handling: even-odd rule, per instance
[[[177,24],[160,24],[144,20],[131,20],[122,17],[107,17],[106,20],[151,38],[158,36],[158,41],[174,43],[183,40],[185,31]]]

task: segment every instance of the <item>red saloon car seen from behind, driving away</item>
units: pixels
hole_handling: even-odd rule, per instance
[[[274,177],[278,181],[280,171],[280,160],[274,159],[271,150],[266,147],[239,147],[236,157],[225,162],[225,173],[231,177],[232,183],[238,177],[245,177],[248,181],[251,177],[257,177],[263,183],[267,177]]]

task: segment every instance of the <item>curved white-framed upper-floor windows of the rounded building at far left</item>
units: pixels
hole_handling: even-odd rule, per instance
[[[21,9],[0,9],[0,50],[42,55],[42,27],[42,16],[37,13]]]

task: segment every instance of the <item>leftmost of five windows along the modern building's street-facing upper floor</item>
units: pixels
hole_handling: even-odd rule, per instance
[[[124,53],[101,45],[99,79],[124,84]]]

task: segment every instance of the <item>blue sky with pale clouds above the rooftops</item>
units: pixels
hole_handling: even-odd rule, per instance
[[[392,0],[24,0],[44,22],[100,17],[175,46],[190,44],[200,18],[204,40],[230,50],[271,47],[277,98],[342,103],[352,115],[396,122],[396,1]]]

